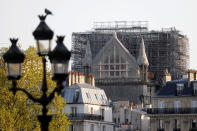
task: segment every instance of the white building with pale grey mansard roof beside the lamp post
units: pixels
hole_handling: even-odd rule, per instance
[[[62,110],[71,121],[69,131],[113,131],[112,107],[104,90],[86,83],[65,88]]]

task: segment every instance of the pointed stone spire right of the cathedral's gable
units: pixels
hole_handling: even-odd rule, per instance
[[[139,55],[137,58],[138,65],[145,65],[149,66],[149,62],[146,56],[145,46],[144,46],[144,39],[142,38],[141,44],[140,44],[140,50]]]

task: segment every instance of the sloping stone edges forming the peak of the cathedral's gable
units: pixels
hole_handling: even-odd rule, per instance
[[[109,48],[112,44],[116,44],[119,47],[121,47],[124,50],[125,54],[128,56],[128,58],[132,60],[134,63],[137,63],[136,59],[130,54],[127,48],[125,48],[125,46],[119,41],[116,32],[114,33],[112,38],[105,44],[105,46],[100,50],[100,52],[96,55],[93,63],[97,62],[98,59],[100,59],[100,57],[105,53],[105,50]]]

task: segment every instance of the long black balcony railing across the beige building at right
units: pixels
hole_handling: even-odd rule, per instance
[[[197,114],[197,108],[151,108],[148,114]]]

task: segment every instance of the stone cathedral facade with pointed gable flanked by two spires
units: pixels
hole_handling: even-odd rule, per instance
[[[136,104],[150,103],[148,66],[143,38],[137,60],[118,40],[116,33],[93,60],[90,44],[87,43],[83,61],[84,75],[93,74],[95,85],[104,89],[107,97],[112,101],[129,100]]]

